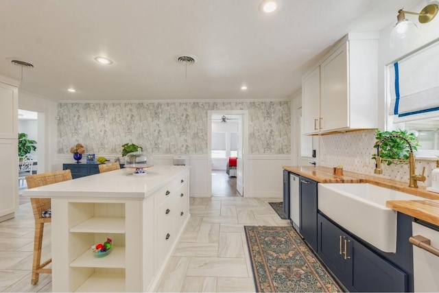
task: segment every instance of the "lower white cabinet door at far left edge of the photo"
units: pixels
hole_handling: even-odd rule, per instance
[[[17,139],[0,139],[0,221],[14,216],[19,208],[19,156]]]

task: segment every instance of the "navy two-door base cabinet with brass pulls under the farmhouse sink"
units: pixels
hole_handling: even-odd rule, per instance
[[[318,214],[318,255],[350,292],[407,292],[409,276]]]

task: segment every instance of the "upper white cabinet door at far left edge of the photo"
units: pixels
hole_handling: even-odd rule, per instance
[[[0,138],[17,139],[18,129],[18,89],[16,86],[0,82]]]

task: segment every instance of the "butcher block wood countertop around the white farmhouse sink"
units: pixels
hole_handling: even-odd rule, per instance
[[[318,183],[370,183],[420,196],[420,200],[389,200],[386,206],[414,218],[439,226],[439,194],[427,191],[425,187],[408,187],[407,182],[385,179],[382,177],[343,171],[343,176],[333,175],[331,167],[283,166],[294,174],[315,180]]]

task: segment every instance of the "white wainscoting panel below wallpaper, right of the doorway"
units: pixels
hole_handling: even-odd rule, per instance
[[[283,195],[284,165],[291,165],[289,154],[252,154],[248,156],[247,198],[279,198]]]

